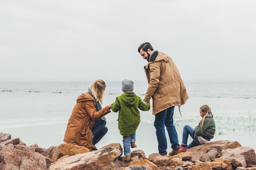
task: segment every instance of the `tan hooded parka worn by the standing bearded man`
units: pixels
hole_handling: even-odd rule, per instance
[[[156,59],[148,62],[144,70],[148,79],[144,102],[153,99],[153,115],[169,107],[185,104],[189,96],[180,72],[170,57],[158,52]]]

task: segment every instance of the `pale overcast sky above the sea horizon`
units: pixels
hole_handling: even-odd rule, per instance
[[[0,21],[0,81],[146,80],[144,42],[184,81],[256,79],[256,0],[2,0]]]

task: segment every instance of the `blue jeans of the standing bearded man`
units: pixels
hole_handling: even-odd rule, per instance
[[[165,109],[155,114],[154,126],[156,129],[159,153],[167,153],[166,152],[167,142],[166,142],[164,126],[166,126],[166,129],[171,141],[171,145],[172,145],[171,147],[172,148],[180,147],[177,131],[173,124],[173,111],[174,111],[174,106],[169,107],[168,109]]]

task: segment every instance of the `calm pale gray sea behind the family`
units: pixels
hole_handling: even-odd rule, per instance
[[[122,94],[121,81],[106,81],[102,107]],[[30,146],[42,148],[63,144],[63,137],[76,98],[88,91],[93,81],[2,81],[0,82],[0,132],[19,137]],[[189,99],[175,107],[174,124],[179,142],[183,126],[197,126],[199,108],[209,105],[216,122],[216,135],[211,141],[237,141],[256,149],[256,80],[248,81],[185,81]],[[147,82],[134,81],[134,92],[144,98]],[[150,101],[152,102],[152,101]],[[146,156],[158,153],[152,110],[140,111],[141,123],[136,131],[137,148]],[[117,125],[118,113],[106,116],[108,133],[96,144],[101,148],[111,143],[122,144]],[[166,133],[168,137],[168,134]],[[168,139],[168,138],[167,138]],[[191,138],[189,138],[191,142]],[[171,144],[168,139],[168,150]]]

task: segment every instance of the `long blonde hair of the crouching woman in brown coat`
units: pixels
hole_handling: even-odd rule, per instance
[[[105,82],[101,79],[97,79],[92,83],[90,89],[96,101],[99,101],[102,104],[103,94],[106,89]]]

